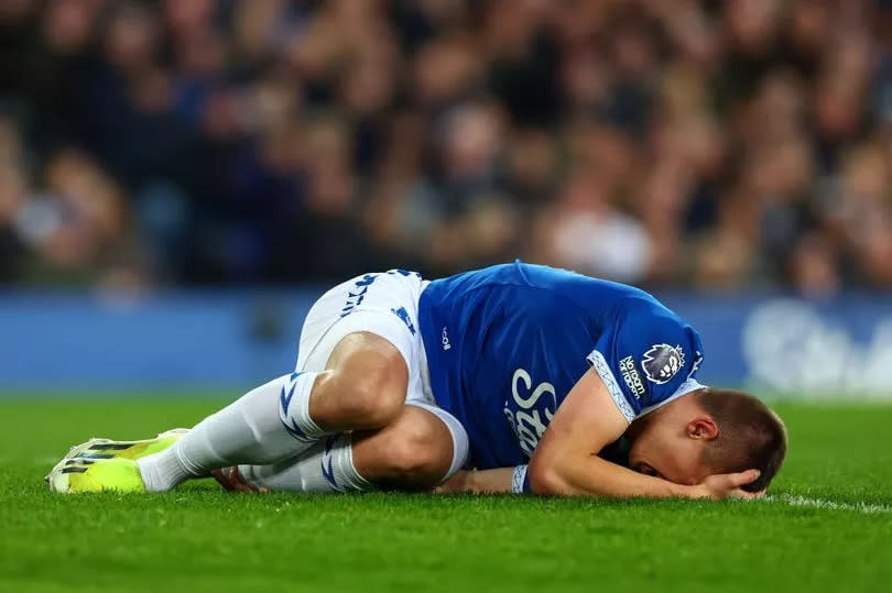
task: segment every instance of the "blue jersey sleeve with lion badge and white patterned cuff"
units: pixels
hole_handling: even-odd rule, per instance
[[[601,332],[588,362],[629,422],[703,387],[700,338],[666,309],[627,311]]]

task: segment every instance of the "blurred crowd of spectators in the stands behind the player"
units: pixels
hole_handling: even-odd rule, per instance
[[[892,289],[892,1],[0,0],[0,282]]]

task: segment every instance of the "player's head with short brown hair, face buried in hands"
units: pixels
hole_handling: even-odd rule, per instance
[[[630,427],[630,466],[679,484],[757,469],[743,487],[765,490],[786,455],[786,428],[757,397],[706,387],[674,399]]]

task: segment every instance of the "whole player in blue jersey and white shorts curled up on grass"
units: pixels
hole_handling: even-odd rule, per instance
[[[309,310],[295,372],[188,431],[75,447],[47,481],[755,496],[785,429],[757,398],[697,383],[701,360],[688,325],[621,284],[520,262],[434,282],[367,274]],[[627,459],[605,459],[623,435]]]

